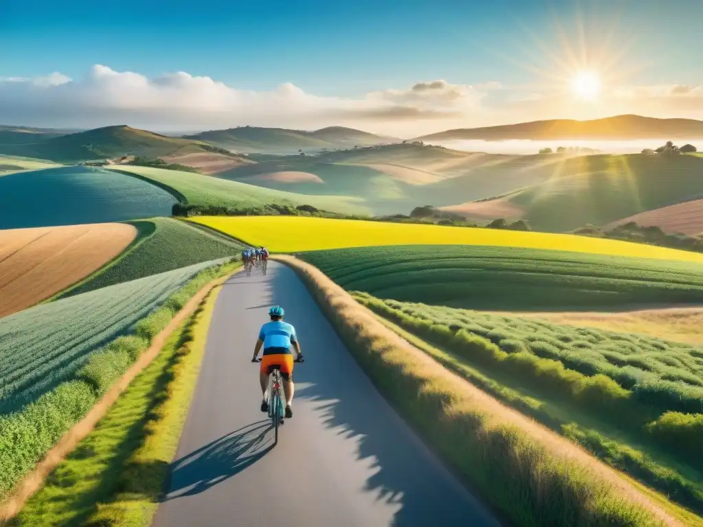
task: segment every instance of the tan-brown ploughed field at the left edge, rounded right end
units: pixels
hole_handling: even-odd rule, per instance
[[[120,254],[136,233],[125,223],[0,230],[0,317],[81,280]]]

